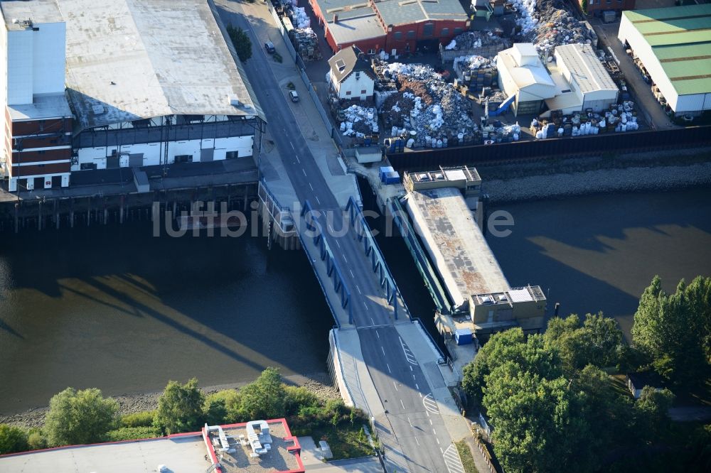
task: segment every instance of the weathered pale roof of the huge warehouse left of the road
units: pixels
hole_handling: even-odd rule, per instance
[[[171,114],[261,115],[207,0],[58,5],[67,89],[82,128]]]

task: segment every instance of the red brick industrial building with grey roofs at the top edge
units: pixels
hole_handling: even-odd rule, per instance
[[[356,45],[368,54],[436,51],[469,28],[459,0],[309,0],[333,53]]]

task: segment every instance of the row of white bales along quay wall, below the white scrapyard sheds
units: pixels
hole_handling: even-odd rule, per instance
[[[530,129],[537,139],[543,139],[635,131],[639,124],[634,102],[624,101],[611,104],[604,113],[588,111],[568,116],[551,113],[550,119],[531,121]]]

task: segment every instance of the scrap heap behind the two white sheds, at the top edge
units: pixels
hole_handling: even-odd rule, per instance
[[[523,40],[552,55],[556,46],[570,43],[597,43],[597,35],[587,22],[567,11],[561,0],[510,0],[518,9],[516,24]]]

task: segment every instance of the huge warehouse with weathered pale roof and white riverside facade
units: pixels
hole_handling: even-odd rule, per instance
[[[58,3],[73,171],[252,156],[263,115],[212,2]]]

